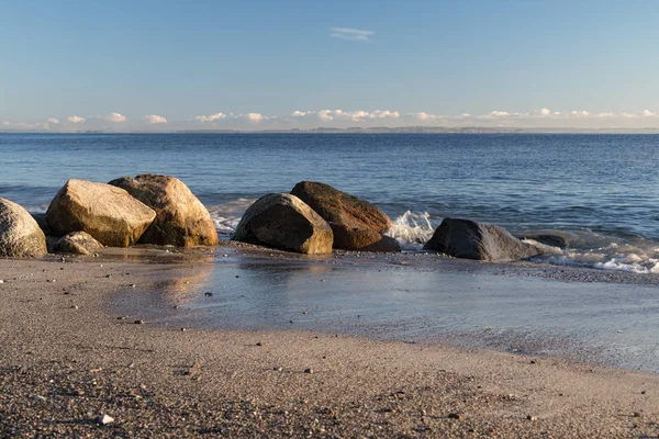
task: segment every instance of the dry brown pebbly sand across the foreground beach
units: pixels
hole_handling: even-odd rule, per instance
[[[136,324],[138,309],[118,316],[107,297],[193,277],[197,264],[75,260],[0,260],[0,437],[658,434],[658,375],[305,331]],[[101,425],[102,415],[114,420]]]

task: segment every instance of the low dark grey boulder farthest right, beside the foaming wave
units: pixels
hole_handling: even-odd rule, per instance
[[[539,254],[503,227],[461,218],[444,218],[423,249],[487,261],[526,259]]]

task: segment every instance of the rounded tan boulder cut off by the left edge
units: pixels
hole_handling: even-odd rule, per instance
[[[0,256],[41,258],[47,252],[46,236],[32,215],[0,199]]]

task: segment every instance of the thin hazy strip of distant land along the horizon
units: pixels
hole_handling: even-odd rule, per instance
[[[20,131],[0,130],[0,134],[659,134],[659,128],[517,128],[517,127],[348,127],[311,130],[175,130],[175,131]]]

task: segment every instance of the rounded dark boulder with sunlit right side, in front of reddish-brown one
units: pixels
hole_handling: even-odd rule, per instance
[[[302,200],[288,193],[270,193],[247,209],[234,240],[306,255],[332,252],[332,228]]]

